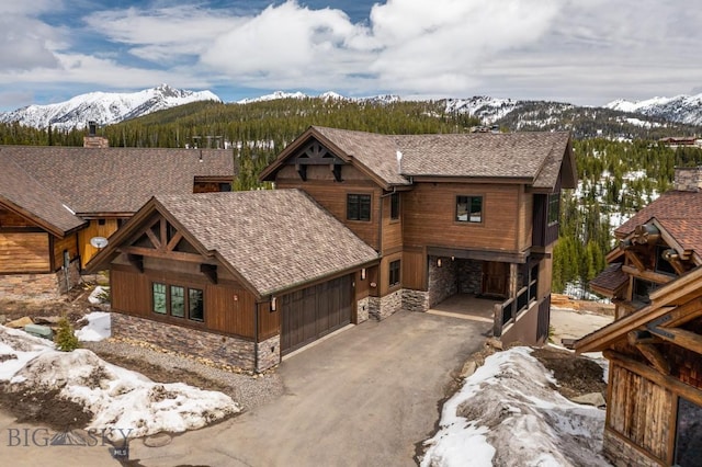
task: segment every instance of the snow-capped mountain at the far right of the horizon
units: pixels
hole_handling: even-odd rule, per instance
[[[637,102],[619,99],[610,102],[605,107],[664,118],[670,122],[702,125],[702,94],[653,98]]]

